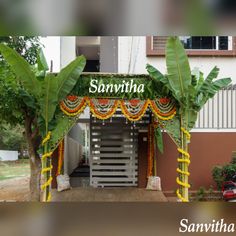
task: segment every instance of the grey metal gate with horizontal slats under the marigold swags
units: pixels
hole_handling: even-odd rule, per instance
[[[90,185],[137,186],[138,132],[145,117],[134,124],[118,111],[111,119],[101,121],[91,116],[90,121]]]

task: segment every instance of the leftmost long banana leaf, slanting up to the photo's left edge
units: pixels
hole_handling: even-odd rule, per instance
[[[35,96],[39,95],[39,81],[36,79],[33,71],[30,68],[30,65],[23,57],[21,57],[15,50],[10,47],[0,44],[0,52],[12,67],[12,70],[19,78],[20,82],[24,88]]]

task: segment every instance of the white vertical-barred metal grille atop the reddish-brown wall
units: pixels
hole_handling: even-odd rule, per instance
[[[236,86],[219,91],[199,112],[195,129],[236,129]]]

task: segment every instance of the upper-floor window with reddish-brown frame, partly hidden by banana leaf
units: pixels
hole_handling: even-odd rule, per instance
[[[165,55],[168,37],[147,37],[147,56]],[[189,56],[234,56],[235,37],[232,36],[179,36]]]

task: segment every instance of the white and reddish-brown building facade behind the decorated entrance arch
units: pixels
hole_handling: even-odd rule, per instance
[[[189,55],[191,69],[199,68],[206,77],[214,66],[218,66],[220,68],[219,77],[231,77],[232,84],[236,84],[236,71],[233,69],[236,64],[235,37],[185,36],[180,38]],[[56,49],[46,46],[46,51],[48,50],[49,60],[53,60],[52,70],[55,72],[76,56],[83,54],[87,58],[85,68],[87,72],[146,74],[145,67],[149,63],[162,73],[166,73],[164,55],[166,39],[167,37],[158,36],[54,37],[51,40],[55,41],[54,47]],[[56,50],[56,55],[59,52],[59,61],[54,61],[52,57],[50,59],[50,50]],[[94,125],[94,120],[86,110],[77,126],[65,138],[64,168],[68,174],[72,174],[72,169],[77,167],[80,159],[78,159],[79,151],[74,151],[76,145],[77,150],[83,149],[85,145],[78,141],[80,134],[75,132],[75,129],[82,130],[88,139],[92,134],[91,124]],[[147,128],[144,128],[143,132],[147,132]],[[72,142],[75,143],[72,144]],[[92,146],[91,142],[90,137],[90,143],[87,146]],[[232,85],[220,91],[214,99],[204,106],[192,131],[190,144],[190,183],[192,189],[196,190],[201,186],[209,188],[214,185],[211,174],[213,167],[229,162],[233,151],[236,151],[236,88]],[[86,154],[90,163],[92,163],[91,152],[90,148],[90,152]],[[110,153],[110,155],[117,154]],[[161,177],[162,188],[165,191],[173,191],[177,188],[175,182],[177,157],[178,153],[174,143],[164,133],[164,154],[158,153],[157,155],[157,175]],[[136,175],[138,174],[136,173]],[[90,178],[92,178],[91,169]],[[94,180],[90,179],[90,184],[96,187],[96,184],[93,183]]]

